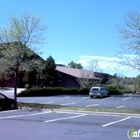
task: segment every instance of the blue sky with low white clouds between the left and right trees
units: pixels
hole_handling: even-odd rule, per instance
[[[122,44],[117,25],[124,24],[126,12],[139,9],[139,0],[0,0],[0,28],[9,15],[31,12],[48,27],[41,48],[45,60],[51,55],[56,63],[74,61],[85,68],[96,60],[104,73],[135,77],[139,72],[114,60]]]

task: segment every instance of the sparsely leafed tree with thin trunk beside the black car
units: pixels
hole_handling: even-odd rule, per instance
[[[23,13],[21,17],[10,16],[8,27],[0,29],[0,53],[8,69],[15,74],[15,100],[19,72],[31,71],[41,63],[34,52],[39,54],[45,41],[44,31],[46,26],[42,25],[41,18],[30,13]]]

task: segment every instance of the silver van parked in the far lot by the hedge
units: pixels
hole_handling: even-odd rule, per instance
[[[90,98],[93,97],[107,97],[109,95],[108,90],[105,87],[92,87],[89,92]]]

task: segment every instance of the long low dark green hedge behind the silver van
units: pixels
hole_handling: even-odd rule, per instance
[[[113,86],[105,86],[110,95],[121,95],[123,93],[131,93],[131,89],[118,89]],[[46,88],[30,88],[18,94],[19,97],[33,96],[54,96],[54,95],[89,95],[89,88],[64,88],[64,87],[46,87]]]

